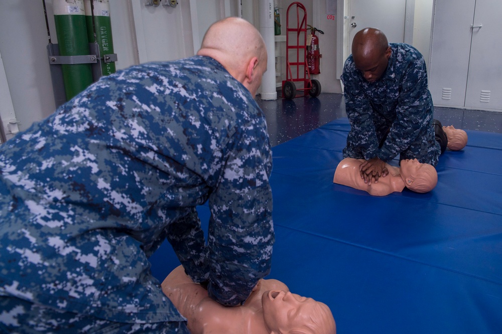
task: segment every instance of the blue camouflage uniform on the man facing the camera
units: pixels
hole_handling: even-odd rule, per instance
[[[400,154],[400,160],[417,158],[436,166],[441,148],[432,126],[434,106],[424,58],[407,44],[390,47],[387,70],[373,83],[355,68],[352,55],[345,61],[341,80],[350,131],[343,157],[376,156],[387,162]]]

